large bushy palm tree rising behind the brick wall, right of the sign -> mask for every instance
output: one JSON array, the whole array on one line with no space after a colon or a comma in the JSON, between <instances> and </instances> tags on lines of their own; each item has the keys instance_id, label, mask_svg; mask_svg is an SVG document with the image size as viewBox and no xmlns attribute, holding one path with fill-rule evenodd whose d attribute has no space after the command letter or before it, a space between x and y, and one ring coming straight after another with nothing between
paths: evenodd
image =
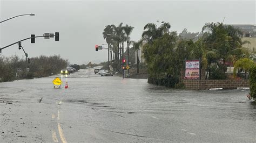
<instances>
[{"instance_id":1,"label":"large bushy palm tree rising behind the brick wall, right of the sign","mask_svg":"<svg viewBox=\"0 0 256 143\"><path fill-rule=\"evenodd\" d=\"M204 39L206 46L210 48L219 59L223 60L223 73L226 72L226 61L232 61L236 56L241 58L247 50L243 48L241 42L241 31L230 25L223 23L206 23L202 32L207 32ZM239 59L238 58L238 59Z\"/></svg>"}]
</instances>

